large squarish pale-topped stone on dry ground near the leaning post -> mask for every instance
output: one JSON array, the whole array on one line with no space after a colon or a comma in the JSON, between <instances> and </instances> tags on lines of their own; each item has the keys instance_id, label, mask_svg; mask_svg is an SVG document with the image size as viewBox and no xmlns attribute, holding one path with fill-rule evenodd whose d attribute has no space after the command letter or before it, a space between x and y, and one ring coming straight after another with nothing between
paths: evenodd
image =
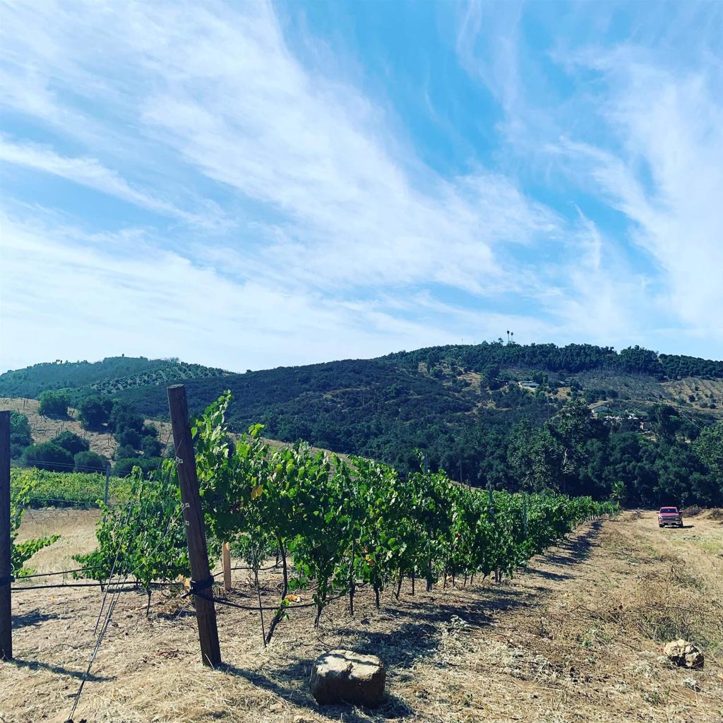
<instances>
[{"instance_id":1,"label":"large squarish pale-topped stone on dry ground near the leaning post","mask_svg":"<svg viewBox=\"0 0 723 723\"><path fill-rule=\"evenodd\" d=\"M387 672L375 655L331 650L318 657L312 669L311 689L317 703L353 703L378 706L384 698Z\"/></svg>"}]
</instances>

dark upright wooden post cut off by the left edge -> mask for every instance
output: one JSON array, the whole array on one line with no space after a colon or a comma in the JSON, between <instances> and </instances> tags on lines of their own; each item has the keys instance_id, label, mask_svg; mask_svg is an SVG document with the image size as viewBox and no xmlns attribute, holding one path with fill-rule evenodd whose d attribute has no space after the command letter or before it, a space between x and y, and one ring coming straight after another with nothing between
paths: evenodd
<instances>
[{"instance_id":1,"label":"dark upright wooden post cut off by the left edge","mask_svg":"<svg viewBox=\"0 0 723 723\"><path fill-rule=\"evenodd\" d=\"M12 660L10 412L0 411L0 660Z\"/></svg>"}]
</instances>

